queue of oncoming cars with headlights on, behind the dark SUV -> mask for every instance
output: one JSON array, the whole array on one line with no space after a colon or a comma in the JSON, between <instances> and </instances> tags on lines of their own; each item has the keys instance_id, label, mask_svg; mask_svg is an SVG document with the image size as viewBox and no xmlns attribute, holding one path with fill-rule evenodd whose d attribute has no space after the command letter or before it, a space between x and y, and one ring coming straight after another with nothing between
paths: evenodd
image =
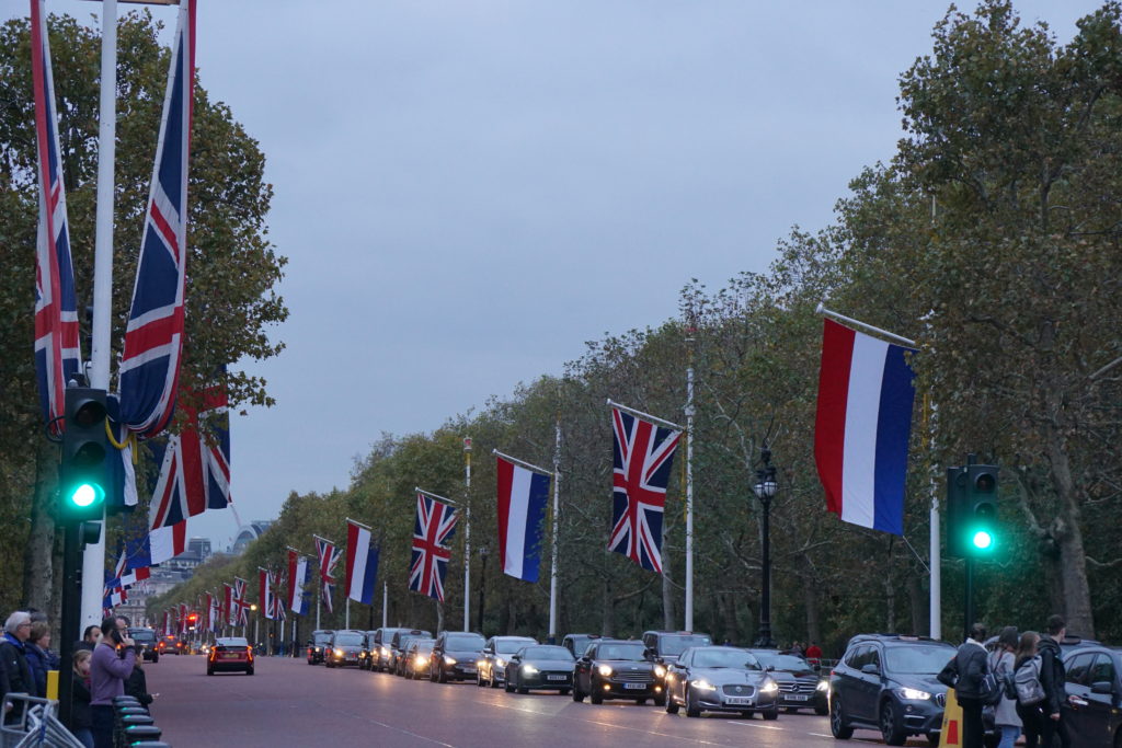
<instances>
[{"instance_id":1,"label":"queue of oncoming cars with headlights on, behind the dark SUV","mask_svg":"<svg viewBox=\"0 0 1122 748\"><path fill-rule=\"evenodd\" d=\"M714 646L705 634L646 631L642 639L567 635L561 645L524 636L473 631L380 628L316 630L307 664L355 665L434 683L468 681L507 692L557 691L594 704L606 700L653 702L671 714L760 713L781 710L827 713L827 689L802 657L771 649Z\"/></svg>"}]
</instances>

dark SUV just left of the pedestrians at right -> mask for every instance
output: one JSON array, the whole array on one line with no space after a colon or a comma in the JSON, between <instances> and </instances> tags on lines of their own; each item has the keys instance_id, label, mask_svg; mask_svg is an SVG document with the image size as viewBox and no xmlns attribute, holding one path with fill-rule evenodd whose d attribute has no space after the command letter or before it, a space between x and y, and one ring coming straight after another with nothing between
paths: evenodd
<instances>
[{"instance_id":1,"label":"dark SUV just left of the pedestrians at right","mask_svg":"<svg viewBox=\"0 0 1122 748\"><path fill-rule=\"evenodd\" d=\"M853 637L830 673L830 732L848 740L859 727L880 730L890 746L902 746L912 735L938 745L947 687L935 676L955 652L927 637Z\"/></svg>"}]
</instances>

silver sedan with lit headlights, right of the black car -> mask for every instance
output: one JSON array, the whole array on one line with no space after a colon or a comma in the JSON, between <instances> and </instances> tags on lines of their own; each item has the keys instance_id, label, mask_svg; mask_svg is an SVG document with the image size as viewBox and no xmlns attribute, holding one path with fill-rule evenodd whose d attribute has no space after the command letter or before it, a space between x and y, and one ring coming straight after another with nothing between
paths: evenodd
<instances>
[{"instance_id":1,"label":"silver sedan with lit headlights, right of the black car","mask_svg":"<svg viewBox=\"0 0 1122 748\"><path fill-rule=\"evenodd\" d=\"M747 649L690 647L666 669L666 712L738 712L779 717L779 683Z\"/></svg>"}]
</instances>

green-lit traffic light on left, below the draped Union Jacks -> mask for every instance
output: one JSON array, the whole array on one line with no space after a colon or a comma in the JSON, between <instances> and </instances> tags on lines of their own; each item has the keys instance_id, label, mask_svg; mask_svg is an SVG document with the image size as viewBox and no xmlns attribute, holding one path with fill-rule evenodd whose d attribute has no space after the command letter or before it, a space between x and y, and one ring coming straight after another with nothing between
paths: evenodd
<instances>
[{"instance_id":1,"label":"green-lit traffic light on left, below the draped Union Jacks","mask_svg":"<svg viewBox=\"0 0 1122 748\"><path fill-rule=\"evenodd\" d=\"M109 479L105 390L66 388L66 431L58 487L58 519L77 524L101 519Z\"/></svg>"}]
</instances>

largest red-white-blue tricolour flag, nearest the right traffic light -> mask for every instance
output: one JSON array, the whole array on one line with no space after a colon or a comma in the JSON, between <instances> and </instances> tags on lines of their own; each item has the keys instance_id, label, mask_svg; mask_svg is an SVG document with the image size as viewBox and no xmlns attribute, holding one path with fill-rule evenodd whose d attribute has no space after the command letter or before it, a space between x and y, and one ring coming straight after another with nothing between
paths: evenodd
<instances>
[{"instance_id":1,"label":"largest red-white-blue tricolour flag, nearest the right traffic light","mask_svg":"<svg viewBox=\"0 0 1122 748\"><path fill-rule=\"evenodd\" d=\"M909 349L825 321L815 461L844 521L903 535L916 390Z\"/></svg>"}]
</instances>

